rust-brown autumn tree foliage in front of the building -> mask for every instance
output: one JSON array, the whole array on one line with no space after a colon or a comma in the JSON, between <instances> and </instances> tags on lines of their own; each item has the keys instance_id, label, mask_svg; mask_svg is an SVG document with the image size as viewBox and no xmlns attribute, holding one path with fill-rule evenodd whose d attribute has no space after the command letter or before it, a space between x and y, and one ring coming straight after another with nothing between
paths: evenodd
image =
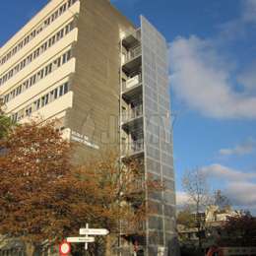
<instances>
[{"instance_id":1,"label":"rust-brown autumn tree foliage in front of the building","mask_svg":"<svg viewBox=\"0 0 256 256\"><path fill-rule=\"evenodd\" d=\"M126 235L138 232L152 211L144 188L162 189L145 180L139 162L121 164L113 153L74 165L76 146L54 122L16 126L0 138L0 149L0 233L32 247L77 236L87 223L116 235L120 223Z\"/></svg>"}]
</instances>

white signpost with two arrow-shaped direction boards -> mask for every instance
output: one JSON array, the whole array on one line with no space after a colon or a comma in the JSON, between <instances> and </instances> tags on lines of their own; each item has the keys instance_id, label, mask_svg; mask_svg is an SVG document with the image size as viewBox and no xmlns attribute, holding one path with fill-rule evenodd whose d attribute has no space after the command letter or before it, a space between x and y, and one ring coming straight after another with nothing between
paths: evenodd
<instances>
[{"instance_id":1,"label":"white signpost with two arrow-shaped direction boards","mask_svg":"<svg viewBox=\"0 0 256 256\"><path fill-rule=\"evenodd\" d=\"M67 242L83 242L85 243L85 249L88 250L88 243L95 242L96 238L94 236L89 235L107 235L109 231L104 228L89 228L89 224L87 224L86 228L80 228L79 234L85 235L80 237L68 237Z\"/></svg>"}]
</instances>

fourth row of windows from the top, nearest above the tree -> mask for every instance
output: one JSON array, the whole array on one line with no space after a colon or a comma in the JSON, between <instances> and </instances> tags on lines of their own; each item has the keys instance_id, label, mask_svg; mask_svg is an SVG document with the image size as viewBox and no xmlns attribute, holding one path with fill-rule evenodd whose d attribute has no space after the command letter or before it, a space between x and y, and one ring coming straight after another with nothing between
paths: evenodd
<instances>
[{"instance_id":1,"label":"fourth row of windows from the top, nearest above the tree","mask_svg":"<svg viewBox=\"0 0 256 256\"><path fill-rule=\"evenodd\" d=\"M52 90L50 93L39 97L35 101L32 102L32 104L26 106L22 110L14 113L12 115L12 121L18 122L22 118L31 116L32 112L37 111L39 108L44 107L48 103L56 100L60 96L64 96L69 92L69 84L65 83L64 85Z\"/></svg>"}]
</instances>

